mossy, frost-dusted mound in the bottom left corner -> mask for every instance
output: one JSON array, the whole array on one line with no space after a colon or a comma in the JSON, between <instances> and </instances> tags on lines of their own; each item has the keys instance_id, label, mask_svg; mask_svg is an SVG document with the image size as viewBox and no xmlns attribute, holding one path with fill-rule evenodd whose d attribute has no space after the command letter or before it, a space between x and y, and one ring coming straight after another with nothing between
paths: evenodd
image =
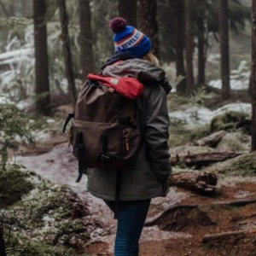
<instances>
[{"instance_id":1,"label":"mossy, frost-dusted mound in the bottom left corner","mask_svg":"<svg viewBox=\"0 0 256 256\"><path fill-rule=\"evenodd\" d=\"M8 255L86 255L79 250L90 240L89 211L78 195L16 165L1 175L2 198L13 199L2 206Z\"/></svg>"}]
</instances>

